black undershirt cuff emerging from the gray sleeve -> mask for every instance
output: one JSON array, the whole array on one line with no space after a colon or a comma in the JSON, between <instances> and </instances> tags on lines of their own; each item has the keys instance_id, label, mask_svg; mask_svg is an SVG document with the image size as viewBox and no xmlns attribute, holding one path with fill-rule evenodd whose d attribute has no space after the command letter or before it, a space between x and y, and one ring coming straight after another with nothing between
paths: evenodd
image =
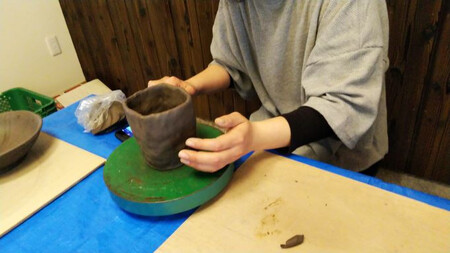
<instances>
[{"instance_id":1,"label":"black undershirt cuff emerging from the gray sleeve","mask_svg":"<svg viewBox=\"0 0 450 253\"><path fill-rule=\"evenodd\" d=\"M322 114L311 107L301 106L281 116L287 120L291 129L291 144L277 149L281 153L292 153L305 144L336 136Z\"/></svg>"}]
</instances>

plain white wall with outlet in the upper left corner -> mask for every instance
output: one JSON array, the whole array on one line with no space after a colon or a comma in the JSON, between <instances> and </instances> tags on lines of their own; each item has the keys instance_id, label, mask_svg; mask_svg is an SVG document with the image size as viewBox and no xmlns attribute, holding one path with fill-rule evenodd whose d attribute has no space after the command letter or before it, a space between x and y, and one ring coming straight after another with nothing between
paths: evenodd
<instances>
[{"instance_id":1,"label":"plain white wall with outlet in the upper left corner","mask_svg":"<svg viewBox=\"0 0 450 253\"><path fill-rule=\"evenodd\" d=\"M57 56L45 42L54 35ZM0 92L24 87L55 96L84 81L58 0L0 0Z\"/></svg>"}]
</instances>

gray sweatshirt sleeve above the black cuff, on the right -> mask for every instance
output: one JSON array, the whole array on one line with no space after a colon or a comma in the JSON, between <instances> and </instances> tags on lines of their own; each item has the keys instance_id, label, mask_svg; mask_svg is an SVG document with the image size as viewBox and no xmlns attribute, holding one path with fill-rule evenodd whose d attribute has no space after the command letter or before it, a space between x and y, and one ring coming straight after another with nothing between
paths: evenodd
<instances>
[{"instance_id":1,"label":"gray sweatshirt sleeve above the black cuff, on the right","mask_svg":"<svg viewBox=\"0 0 450 253\"><path fill-rule=\"evenodd\" d=\"M377 117L388 65L387 11L382 0L327 3L303 70L304 106L322 114L352 149Z\"/></svg>"}]
</instances>

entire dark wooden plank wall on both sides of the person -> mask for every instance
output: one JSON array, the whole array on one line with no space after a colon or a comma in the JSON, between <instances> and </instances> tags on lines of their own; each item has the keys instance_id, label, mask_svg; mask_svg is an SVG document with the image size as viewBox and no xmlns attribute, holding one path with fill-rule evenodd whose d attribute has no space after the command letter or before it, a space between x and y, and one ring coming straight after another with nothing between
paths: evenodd
<instances>
[{"instance_id":1,"label":"entire dark wooden plank wall on both sides of the person","mask_svg":"<svg viewBox=\"0 0 450 253\"><path fill-rule=\"evenodd\" d=\"M383 165L450 183L450 1L387 0L390 151ZM87 80L127 95L162 76L188 78L211 61L218 0L60 0ZM195 99L214 119L257 101L235 91Z\"/></svg>"}]
</instances>

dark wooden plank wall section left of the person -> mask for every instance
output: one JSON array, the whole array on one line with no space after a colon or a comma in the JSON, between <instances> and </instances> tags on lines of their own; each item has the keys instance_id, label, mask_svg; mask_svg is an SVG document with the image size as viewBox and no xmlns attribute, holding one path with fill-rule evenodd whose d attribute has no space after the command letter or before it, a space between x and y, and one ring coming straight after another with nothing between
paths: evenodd
<instances>
[{"instance_id":1,"label":"dark wooden plank wall section left of the person","mask_svg":"<svg viewBox=\"0 0 450 253\"><path fill-rule=\"evenodd\" d=\"M60 0L87 80L98 78L125 94L163 76L183 79L211 62L209 44L218 1ZM214 119L246 102L232 90L195 100L199 117Z\"/></svg>"}]
</instances>

